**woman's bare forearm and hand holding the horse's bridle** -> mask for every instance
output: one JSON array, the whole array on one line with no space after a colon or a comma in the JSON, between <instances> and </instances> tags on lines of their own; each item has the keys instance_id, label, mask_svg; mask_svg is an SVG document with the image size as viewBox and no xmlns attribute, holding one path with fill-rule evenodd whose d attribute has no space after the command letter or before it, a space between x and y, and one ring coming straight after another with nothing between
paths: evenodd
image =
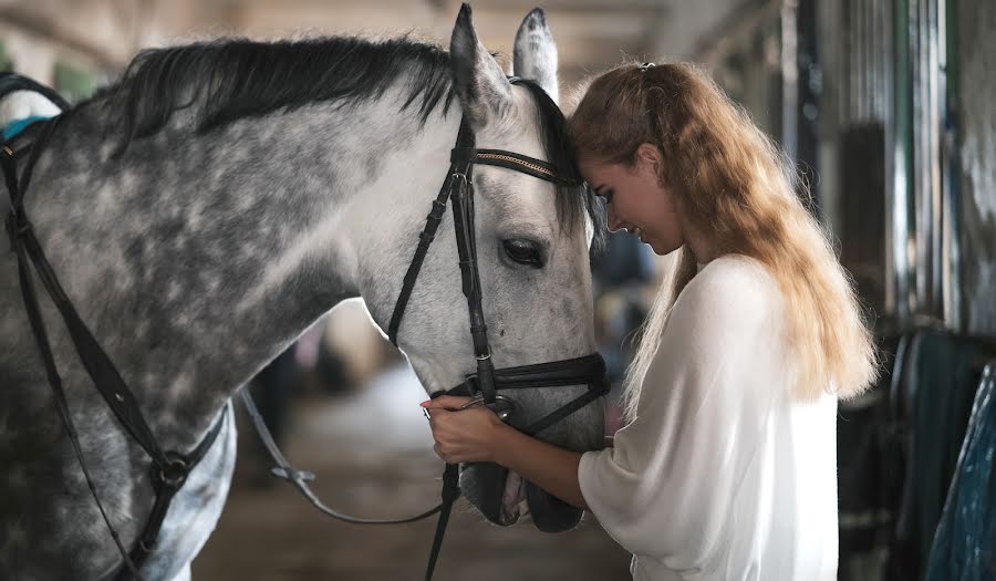
<instances>
[{"instance_id":1,"label":"woman's bare forearm and hand holding the horse's bridle","mask_svg":"<svg viewBox=\"0 0 996 581\"><path fill-rule=\"evenodd\" d=\"M486 407L458 409L468 398L443 396L423 403L436 453L447 463L494 461L575 507L587 508L578 484L581 454L527 436Z\"/></svg>"}]
</instances>

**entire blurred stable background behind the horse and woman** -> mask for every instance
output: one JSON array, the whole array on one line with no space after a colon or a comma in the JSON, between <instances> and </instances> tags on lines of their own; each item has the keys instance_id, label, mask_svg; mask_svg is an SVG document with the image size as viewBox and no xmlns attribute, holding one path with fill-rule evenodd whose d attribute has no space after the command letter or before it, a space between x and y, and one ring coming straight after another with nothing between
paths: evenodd
<instances>
[{"instance_id":1,"label":"entire blurred stable background behind the horse and woman","mask_svg":"<svg viewBox=\"0 0 996 581\"><path fill-rule=\"evenodd\" d=\"M473 6L483 42L510 54L536 4ZM979 422L969 419L983 370L996 357L996 3L541 6L560 51L562 90L626 55L696 61L796 159L812 211L857 280L888 354L880 384L840 409L839 578L923 577L945 502L958 498L954 475L972 469L958 456L966 429ZM147 46L412 30L446 42L457 9L449 0L2 0L0 70L80 100ZM636 239L613 235L593 264L596 329L616 387L660 260ZM289 457L318 475L329 504L386 518L437 501L442 463L417 409L424 392L361 302L334 309L251 388ZM614 402L609 407L611 434L618 412ZM326 521L267 475L255 434L240 426L231 495L194 562L195 579L422 574L433 522ZM988 495L996 496L992 486ZM629 556L591 516L575 531L546 536L528 523L491 527L467 505L456 512L439 580L629 579ZM976 541L996 568L993 539Z\"/></svg>"}]
</instances>

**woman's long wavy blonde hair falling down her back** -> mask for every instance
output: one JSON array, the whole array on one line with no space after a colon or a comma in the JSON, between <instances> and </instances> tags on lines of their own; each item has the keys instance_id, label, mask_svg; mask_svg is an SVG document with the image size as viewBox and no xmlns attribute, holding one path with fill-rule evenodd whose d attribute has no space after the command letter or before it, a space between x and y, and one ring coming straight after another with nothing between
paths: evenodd
<instances>
[{"instance_id":1,"label":"woman's long wavy blonde hair falling down her back","mask_svg":"<svg viewBox=\"0 0 996 581\"><path fill-rule=\"evenodd\" d=\"M718 253L748 256L767 268L785 295L800 363L795 400L828 391L851 397L874 381L876 350L851 279L797 195L790 162L707 74L687 63L621 64L591 82L568 128L581 159L632 165L641 144L656 145L661 180L688 222ZM630 419L671 308L696 272L687 245L678 252L626 374Z\"/></svg>"}]
</instances>

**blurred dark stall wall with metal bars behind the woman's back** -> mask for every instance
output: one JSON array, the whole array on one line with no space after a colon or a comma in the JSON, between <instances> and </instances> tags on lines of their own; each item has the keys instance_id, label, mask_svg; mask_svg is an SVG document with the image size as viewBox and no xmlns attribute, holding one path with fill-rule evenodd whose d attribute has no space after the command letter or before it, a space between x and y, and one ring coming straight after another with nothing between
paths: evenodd
<instances>
[{"instance_id":1,"label":"blurred dark stall wall with metal bars behind the woman's back","mask_svg":"<svg viewBox=\"0 0 996 581\"><path fill-rule=\"evenodd\" d=\"M992 443L966 434L993 425L994 19L985 2L771 2L703 54L796 159L885 357L839 411L841 580L994 574L992 523L959 512L964 488L977 506L994 490L965 477L992 470L973 460Z\"/></svg>"}]
</instances>

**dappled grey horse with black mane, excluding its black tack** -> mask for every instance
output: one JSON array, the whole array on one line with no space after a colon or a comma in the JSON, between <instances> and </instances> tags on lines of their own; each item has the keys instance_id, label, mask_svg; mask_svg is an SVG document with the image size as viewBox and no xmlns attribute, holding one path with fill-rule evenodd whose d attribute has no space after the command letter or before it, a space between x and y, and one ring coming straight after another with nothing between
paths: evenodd
<instances>
[{"instance_id":1,"label":"dappled grey horse with black mane, excluding its black tack","mask_svg":"<svg viewBox=\"0 0 996 581\"><path fill-rule=\"evenodd\" d=\"M557 56L540 11L522 22L513 69L532 82L509 81L464 6L448 51L411 37L146 50L53 125L24 199L52 270L164 448L189 450L219 430L143 578L189 579L231 481L232 395L340 301L362 298L387 329L461 120L479 147L573 167L546 96L558 95ZM473 180L492 359L516 366L594 352L593 195L500 166ZM454 222L442 216L395 336L429 394L475 372ZM123 558L56 413L11 253L0 257L0 578L113 578ZM98 396L46 297L41 314L96 496L131 547L153 504L149 458ZM521 422L579 390L517 393ZM602 406L585 405L540 437L594 449L602 426ZM523 504L544 531L581 516L494 465L464 466L459 487L500 526Z\"/></svg>"}]
</instances>

